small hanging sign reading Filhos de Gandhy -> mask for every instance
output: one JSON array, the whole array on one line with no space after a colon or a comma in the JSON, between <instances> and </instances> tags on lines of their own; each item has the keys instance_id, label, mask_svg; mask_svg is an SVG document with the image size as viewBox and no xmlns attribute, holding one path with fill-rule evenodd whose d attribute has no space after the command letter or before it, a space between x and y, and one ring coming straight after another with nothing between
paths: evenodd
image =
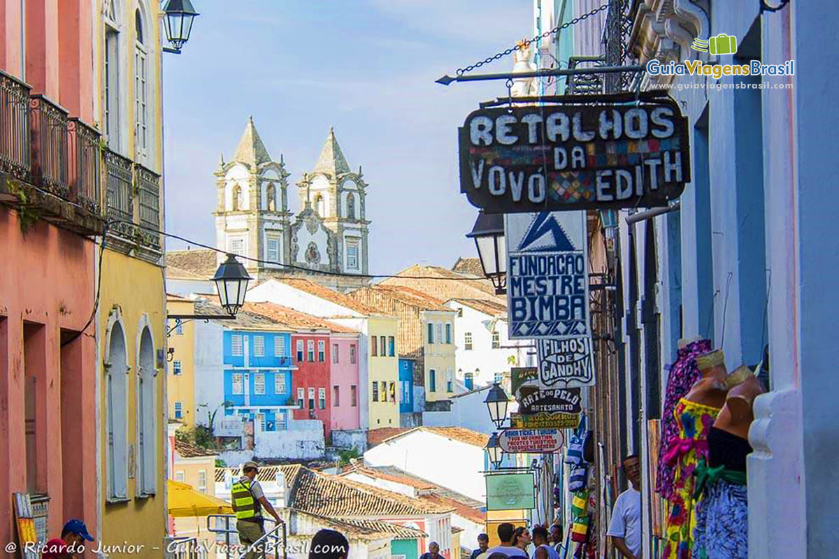
<instances>
[{"instance_id":1,"label":"small hanging sign reading Filhos de Gandhy","mask_svg":"<svg viewBox=\"0 0 839 559\"><path fill-rule=\"evenodd\" d=\"M591 386L594 384L594 356L591 338L538 339L536 356L539 386L545 388Z\"/></svg>"}]
</instances>

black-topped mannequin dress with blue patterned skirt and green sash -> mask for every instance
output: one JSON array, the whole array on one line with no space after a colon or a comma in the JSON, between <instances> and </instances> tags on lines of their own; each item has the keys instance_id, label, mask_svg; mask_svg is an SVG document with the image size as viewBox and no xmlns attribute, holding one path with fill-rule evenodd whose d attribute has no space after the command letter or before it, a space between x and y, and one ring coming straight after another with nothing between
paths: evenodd
<instances>
[{"instance_id":1,"label":"black-topped mannequin dress with blue patterned skirt and green sash","mask_svg":"<svg viewBox=\"0 0 839 559\"><path fill-rule=\"evenodd\" d=\"M748 559L748 441L717 427L708 433L708 464L696 468L693 556L696 559Z\"/></svg>"}]
</instances>

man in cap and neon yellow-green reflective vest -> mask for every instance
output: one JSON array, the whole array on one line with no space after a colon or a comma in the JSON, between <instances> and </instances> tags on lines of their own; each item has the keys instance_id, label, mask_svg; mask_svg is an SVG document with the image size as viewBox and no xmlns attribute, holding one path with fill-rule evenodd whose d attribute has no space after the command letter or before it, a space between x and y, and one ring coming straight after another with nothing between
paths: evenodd
<instances>
[{"instance_id":1,"label":"man in cap and neon yellow-green reflective vest","mask_svg":"<svg viewBox=\"0 0 839 559\"><path fill-rule=\"evenodd\" d=\"M259 466L256 462L243 463L242 477L236 480L231 489L239 543L246 548L265 534L262 509L267 510L268 514L274 516L274 520L279 522L277 511L268 503L262 486L256 479L258 472ZM258 551L258 549L250 550L243 557L256 559L256 557L265 556L264 549Z\"/></svg>"}]
</instances>

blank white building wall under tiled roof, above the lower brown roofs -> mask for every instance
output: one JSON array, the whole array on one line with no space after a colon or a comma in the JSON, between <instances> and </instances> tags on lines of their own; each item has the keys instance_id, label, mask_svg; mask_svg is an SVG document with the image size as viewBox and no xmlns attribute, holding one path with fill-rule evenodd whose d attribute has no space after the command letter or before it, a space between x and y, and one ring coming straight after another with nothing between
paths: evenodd
<instances>
[{"instance_id":1,"label":"blank white building wall under tiled roof, above the lower brown roofs","mask_svg":"<svg viewBox=\"0 0 839 559\"><path fill-rule=\"evenodd\" d=\"M419 429L370 448L364 463L396 466L483 502L483 457L483 448Z\"/></svg>"}]
</instances>

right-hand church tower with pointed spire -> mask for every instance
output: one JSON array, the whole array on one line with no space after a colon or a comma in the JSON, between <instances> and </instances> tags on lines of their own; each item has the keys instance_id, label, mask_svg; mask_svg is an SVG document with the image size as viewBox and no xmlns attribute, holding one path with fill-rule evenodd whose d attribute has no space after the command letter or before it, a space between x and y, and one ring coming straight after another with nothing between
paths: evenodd
<instances>
[{"instance_id":1,"label":"right-hand church tower with pointed spire","mask_svg":"<svg viewBox=\"0 0 839 559\"><path fill-rule=\"evenodd\" d=\"M331 233L328 246L331 272L367 274L367 231L370 224L365 219L367 183L360 166L357 173L350 170L333 128L329 129L315 167L304 174L297 187L301 210L292 225L294 246L298 249L296 256L292 255L295 263L305 265L306 257L314 255L311 248L313 241L309 240L309 236L314 216L317 216L324 229ZM307 217L308 228L303 226ZM347 285L353 283L350 281Z\"/></svg>"}]
</instances>

